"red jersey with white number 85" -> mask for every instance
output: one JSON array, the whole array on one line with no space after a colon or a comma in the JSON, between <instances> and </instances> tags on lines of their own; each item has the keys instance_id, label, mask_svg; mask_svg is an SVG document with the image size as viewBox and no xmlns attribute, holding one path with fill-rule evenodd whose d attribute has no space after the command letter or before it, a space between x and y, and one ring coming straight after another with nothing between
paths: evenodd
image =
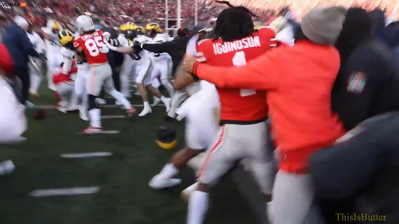
<instances>
[{"instance_id":1,"label":"red jersey with white number 85","mask_svg":"<svg viewBox=\"0 0 399 224\"><path fill-rule=\"evenodd\" d=\"M104 46L103 31L100 29L91 33L84 33L73 40L73 47L75 49L82 48L89 65L108 62L107 53L101 52L101 48Z\"/></svg>"}]
</instances>

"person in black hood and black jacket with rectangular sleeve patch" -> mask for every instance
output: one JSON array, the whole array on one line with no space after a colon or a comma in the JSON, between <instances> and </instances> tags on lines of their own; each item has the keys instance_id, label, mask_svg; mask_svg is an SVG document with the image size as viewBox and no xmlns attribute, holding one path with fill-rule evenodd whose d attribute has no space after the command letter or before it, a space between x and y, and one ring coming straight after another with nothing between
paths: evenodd
<instances>
[{"instance_id":1,"label":"person in black hood and black jacket with rectangular sleeve patch","mask_svg":"<svg viewBox=\"0 0 399 224\"><path fill-rule=\"evenodd\" d=\"M350 8L336 43L341 66L332 89L332 110L348 131L367 118L399 109L393 95L399 89L395 56L372 31L369 14Z\"/></svg>"}]
</instances>

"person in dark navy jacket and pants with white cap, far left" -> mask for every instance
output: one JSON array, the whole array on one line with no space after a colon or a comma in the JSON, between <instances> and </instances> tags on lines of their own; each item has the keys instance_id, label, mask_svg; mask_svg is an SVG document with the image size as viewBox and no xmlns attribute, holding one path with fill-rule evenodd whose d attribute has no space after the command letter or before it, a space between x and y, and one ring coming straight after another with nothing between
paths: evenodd
<instances>
[{"instance_id":1,"label":"person in dark navy jacket and pants with white cap, far left","mask_svg":"<svg viewBox=\"0 0 399 224\"><path fill-rule=\"evenodd\" d=\"M40 55L28 38L26 29L28 29L28 22L21 16L16 16L5 29L3 43L14 61L14 75L18 76L22 83L22 93L17 93L21 94L20 102L23 105L31 106L32 103L27 102L30 88L28 57L39 58ZM9 78L15 80L15 77Z\"/></svg>"}]
</instances>

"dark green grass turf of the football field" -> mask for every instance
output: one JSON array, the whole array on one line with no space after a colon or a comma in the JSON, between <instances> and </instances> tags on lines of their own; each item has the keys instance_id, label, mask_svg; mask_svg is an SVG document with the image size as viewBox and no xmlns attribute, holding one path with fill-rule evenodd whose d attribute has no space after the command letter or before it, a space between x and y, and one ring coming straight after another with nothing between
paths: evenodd
<instances>
[{"instance_id":1,"label":"dark green grass turf of the football field","mask_svg":"<svg viewBox=\"0 0 399 224\"><path fill-rule=\"evenodd\" d=\"M44 86L36 105L55 103ZM142 104L137 96L132 104ZM112 104L109 100L108 104ZM138 111L142 107L137 107ZM120 134L83 136L87 127L77 113L46 110L45 120L32 119L28 110L28 141L20 145L0 145L0 159L12 159L13 173L0 177L1 224L177 224L186 222L187 204L180 192L194 183L194 173L186 168L179 174L182 184L156 191L148 181L157 174L175 150L155 143L156 131L166 125L165 108L157 106L148 118L103 120L105 130ZM124 110L105 108L103 115L125 115ZM184 146L184 124L178 130L178 149ZM61 153L109 151L111 157L62 159ZM35 189L101 187L93 195L34 198ZM229 177L212 191L207 224L251 224L253 214Z\"/></svg>"}]
</instances>

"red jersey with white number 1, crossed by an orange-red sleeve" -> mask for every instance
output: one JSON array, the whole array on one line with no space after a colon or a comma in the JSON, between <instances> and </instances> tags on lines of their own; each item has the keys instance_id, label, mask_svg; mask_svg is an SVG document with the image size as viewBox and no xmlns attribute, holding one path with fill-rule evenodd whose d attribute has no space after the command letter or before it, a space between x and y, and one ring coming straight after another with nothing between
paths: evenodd
<instances>
[{"instance_id":1,"label":"red jersey with white number 1, crossed by an orange-red sleeve","mask_svg":"<svg viewBox=\"0 0 399 224\"><path fill-rule=\"evenodd\" d=\"M246 65L276 46L276 33L269 28L254 31L252 36L226 41L203 39L197 44L197 61L217 66ZM259 65L262 66L262 65ZM267 69L267 68L265 68ZM266 91L219 88L220 119L225 121L253 122L267 117Z\"/></svg>"}]
</instances>

